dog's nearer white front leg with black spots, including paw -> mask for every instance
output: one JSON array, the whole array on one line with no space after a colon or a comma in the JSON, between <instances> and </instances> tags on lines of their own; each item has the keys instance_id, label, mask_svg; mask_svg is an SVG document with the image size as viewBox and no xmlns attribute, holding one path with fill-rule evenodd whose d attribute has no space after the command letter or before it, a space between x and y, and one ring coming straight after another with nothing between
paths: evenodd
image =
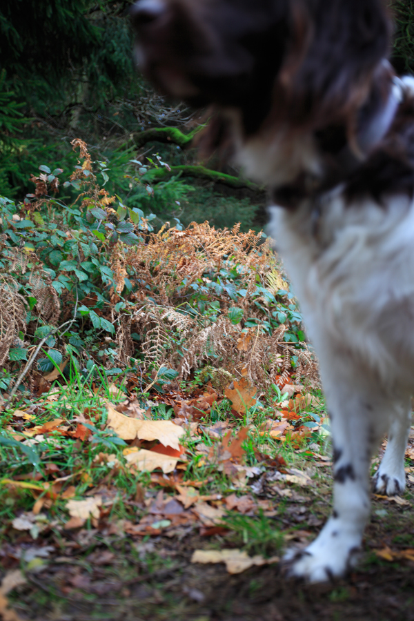
<instances>
[{"instance_id":1,"label":"dog's nearer white front leg with black spots, including paw","mask_svg":"<svg viewBox=\"0 0 414 621\"><path fill-rule=\"evenodd\" d=\"M319 354L333 440L333 513L304 551L289 551L290 575L311 582L342 576L357 560L370 512L369 466L385 433L391 400L347 353Z\"/></svg>"}]
</instances>

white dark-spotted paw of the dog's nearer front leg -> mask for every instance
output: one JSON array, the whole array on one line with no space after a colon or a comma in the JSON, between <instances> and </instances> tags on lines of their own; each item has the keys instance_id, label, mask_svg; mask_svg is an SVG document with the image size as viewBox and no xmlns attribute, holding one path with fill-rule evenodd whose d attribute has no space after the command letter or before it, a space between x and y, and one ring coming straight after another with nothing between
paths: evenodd
<instances>
[{"instance_id":1,"label":"white dark-spotted paw of the dog's nearer front leg","mask_svg":"<svg viewBox=\"0 0 414 621\"><path fill-rule=\"evenodd\" d=\"M335 523L334 523L335 522ZM360 538L341 530L338 520L329 520L304 550L290 549L284 556L288 576L304 578L307 582L327 582L342 578L357 562Z\"/></svg>"}]
</instances>

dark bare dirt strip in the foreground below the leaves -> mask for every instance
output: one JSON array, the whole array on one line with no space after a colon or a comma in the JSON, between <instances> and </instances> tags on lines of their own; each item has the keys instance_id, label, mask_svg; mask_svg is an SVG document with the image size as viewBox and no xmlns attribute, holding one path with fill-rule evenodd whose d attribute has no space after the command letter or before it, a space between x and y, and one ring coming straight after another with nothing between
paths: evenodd
<instances>
[{"instance_id":1,"label":"dark bare dirt strip in the foreground below the leaves","mask_svg":"<svg viewBox=\"0 0 414 621\"><path fill-rule=\"evenodd\" d=\"M412 504L413 486L404 499ZM317 532L329 496L319 496L316 506L315 500L291 502L275 526ZM335 584L288 580L278 564L237 575L223 564L191 564L195 549L226 547L219 535L134 541L83 531L81 540L72 534L61 542L65 555L26 573L28 582L9 599L22 619L33 621L414 621L414 562L375 553L414 548L408 503L374 500L362 560ZM307 530L299 530L304 524Z\"/></svg>"}]
</instances>

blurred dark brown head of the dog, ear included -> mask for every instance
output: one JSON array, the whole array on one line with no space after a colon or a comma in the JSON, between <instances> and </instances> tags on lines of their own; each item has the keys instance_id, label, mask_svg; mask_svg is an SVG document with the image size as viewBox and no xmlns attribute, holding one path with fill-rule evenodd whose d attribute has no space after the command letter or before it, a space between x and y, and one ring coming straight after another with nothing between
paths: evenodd
<instances>
[{"instance_id":1,"label":"blurred dark brown head of the dog, ear included","mask_svg":"<svg viewBox=\"0 0 414 621\"><path fill-rule=\"evenodd\" d=\"M348 124L388 53L382 0L139 0L137 57L166 95L275 125Z\"/></svg>"}]
</instances>

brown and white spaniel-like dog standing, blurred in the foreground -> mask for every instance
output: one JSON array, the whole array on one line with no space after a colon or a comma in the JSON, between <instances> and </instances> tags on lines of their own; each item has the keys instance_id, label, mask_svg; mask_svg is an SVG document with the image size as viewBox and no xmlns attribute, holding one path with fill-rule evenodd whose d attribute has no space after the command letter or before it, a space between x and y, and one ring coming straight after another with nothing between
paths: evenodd
<instances>
[{"instance_id":1,"label":"brown and white spaniel-like dog standing, blurred in the foreground","mask_svg":"<svg viewBox=\"0 0 414 621\"><path fill-rule=\"evenodd\" d=\"M201 149L268 186L270 234L319 359L333 513L290 575L355 564L373 486L405 487L414 382L414 79L388 62L381 0L140 0L137 57L164 94L213 106Z\"/></svg>"}]
</instances>

